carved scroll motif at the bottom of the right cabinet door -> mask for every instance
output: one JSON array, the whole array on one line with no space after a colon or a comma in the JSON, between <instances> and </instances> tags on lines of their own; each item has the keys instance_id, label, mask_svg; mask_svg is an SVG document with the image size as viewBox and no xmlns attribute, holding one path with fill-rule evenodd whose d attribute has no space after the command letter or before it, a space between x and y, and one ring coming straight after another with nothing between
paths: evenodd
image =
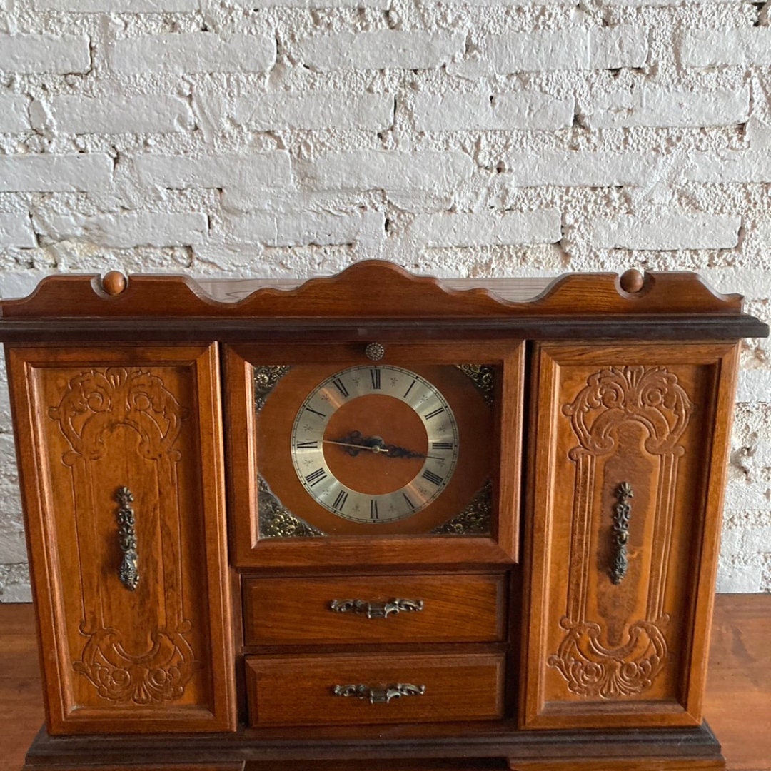
<instances>
[{"instance_id":1,"label":"carved scroll motif at the bottom of the right cabinet door","mask_svg":"<svg viewBox=\"0 0 771 771\"><path fill-rule=\"evenodd\" d=\"M668 620L636 621L626 645L604 648L598 624L563 618L560 625L567 635L547 664L564 677L567 690L579 696L611 700L641 695L664 668L668 648L662 627Z\"/></svg>"}]
</instances>

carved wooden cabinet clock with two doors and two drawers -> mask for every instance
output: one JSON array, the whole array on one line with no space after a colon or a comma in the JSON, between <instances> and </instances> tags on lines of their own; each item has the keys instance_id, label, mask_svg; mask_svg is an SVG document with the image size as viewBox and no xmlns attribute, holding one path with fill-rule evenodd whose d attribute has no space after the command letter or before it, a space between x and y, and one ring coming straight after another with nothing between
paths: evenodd
<instances>
[{"instance_id":1,"label":"carved wooden cabinet clock with two doors and two drawers","mask_svg":"<svg viewBox=\"0 0 771 771\"><path fill-rule=\"evenodd\" d=\"M0 306L27 771L725 768L702 693L739 340L768 332L741 298L376 261L209 284Z\"/></svg>"}]
</instances>

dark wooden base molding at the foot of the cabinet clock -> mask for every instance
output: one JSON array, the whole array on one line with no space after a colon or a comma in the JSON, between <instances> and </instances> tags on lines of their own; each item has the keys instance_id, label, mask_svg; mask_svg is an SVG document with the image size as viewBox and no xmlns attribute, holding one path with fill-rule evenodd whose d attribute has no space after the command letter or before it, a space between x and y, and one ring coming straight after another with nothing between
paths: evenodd
<instances>
[{"instance_id":1,"label":"dark wooden base molding at the foot of the cabinet clock","mask_svg":"<svg viewBox=\"0 0 771 771\"><path fill-rule=\"evenodd\" d=\"M298 739L298 733L302 738ZM233 734L49 736L23 771L722 771L706 724L693 729L517 731L506 723Z\"/></svg>"}]
</instances>

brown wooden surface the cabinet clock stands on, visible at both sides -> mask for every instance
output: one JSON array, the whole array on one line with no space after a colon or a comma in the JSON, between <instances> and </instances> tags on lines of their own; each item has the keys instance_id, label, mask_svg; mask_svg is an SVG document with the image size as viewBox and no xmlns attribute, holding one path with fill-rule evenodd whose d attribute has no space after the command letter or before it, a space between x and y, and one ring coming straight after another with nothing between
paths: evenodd
<instances>
[{"instance_id":1,"label":"brown wooden surface the cabinet clock stands on, visible at both sides","mask_svg":"<svg viewBox=\"0 0 771 771\"><path fill-rule=\"evenodd\" d=\"M771 594L718 595L705 714L731 771L771 771ZM0 771L42 719L32 606L0 604Z\"/></svg>"}]
</instances>

